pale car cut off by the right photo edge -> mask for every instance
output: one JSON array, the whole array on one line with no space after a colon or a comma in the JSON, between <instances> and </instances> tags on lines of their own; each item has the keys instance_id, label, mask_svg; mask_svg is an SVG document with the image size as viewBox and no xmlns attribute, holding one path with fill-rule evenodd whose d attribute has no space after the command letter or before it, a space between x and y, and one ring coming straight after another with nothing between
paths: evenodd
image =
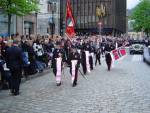
<instances>
[{"instance_id":1,"label":"pale car cut off by the right photo edge","mask_svg":"<svg viewBox=\"0 0 150 113\"><path fill-rule=\"evenodd\" d=\"M150 47L144 48L143 61L150 65Z\"/></svg>"}]
</instances>

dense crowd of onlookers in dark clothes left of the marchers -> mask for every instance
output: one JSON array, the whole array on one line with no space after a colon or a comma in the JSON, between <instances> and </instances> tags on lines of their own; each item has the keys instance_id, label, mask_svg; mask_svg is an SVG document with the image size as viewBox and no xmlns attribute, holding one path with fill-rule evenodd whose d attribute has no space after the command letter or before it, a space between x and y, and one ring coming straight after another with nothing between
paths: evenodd
<instances>
[{"instance_id":1,"label":"dense crowd of onlookers in dark clothes left of the marchers","mask_svg":"<svg viewBox=\"0 0 150 113\"><path fill-rule=\"evenodd\" d=\"M56 40L59 38L59 36L55 37ZM45 68L50 67L54 49L54 42L50 36L20 36L16 34L12 37L0 37L0 86L2 89L9 87L9 77L11 76L7 66L9 58L6 51L15 42L22 50L22 77L27 78L29 75L43 72Z\"/></svg>"}]
</instances>

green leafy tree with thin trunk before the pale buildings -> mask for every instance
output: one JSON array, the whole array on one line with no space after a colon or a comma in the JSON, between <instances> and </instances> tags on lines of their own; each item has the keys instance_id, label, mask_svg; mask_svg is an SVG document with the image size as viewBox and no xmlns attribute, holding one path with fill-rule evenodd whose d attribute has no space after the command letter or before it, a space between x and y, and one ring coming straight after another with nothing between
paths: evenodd
<instances>
[{"instance_id":1,"label":"green leafy tree with thin trunk before the pale buildings","mask_svg":"<svg viewBox=\"0 0 150 113\"><path fill-rule=\"evenodd\" d=\"M24 16L38 11L37 0L0 0L0 8L8 15L8 34L10 35L12 15Z\"/></svg>"}]
</instances>

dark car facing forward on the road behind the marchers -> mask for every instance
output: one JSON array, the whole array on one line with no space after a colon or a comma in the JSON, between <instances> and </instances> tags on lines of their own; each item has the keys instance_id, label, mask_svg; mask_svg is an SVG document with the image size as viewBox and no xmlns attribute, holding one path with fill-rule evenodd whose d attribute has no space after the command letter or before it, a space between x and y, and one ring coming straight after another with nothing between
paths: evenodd
<instances>
[{"instance_id":1,"label":"dark car facing forward on the road behind the marchers","mask_svg":"<svg viewBox=\"0 0 150 113\"><path fill-rule=\"evenodd\" d=\"M143 54L144 42L140 40L134 40L129 47L130 54Z\"/></svg>"}]
</instances>

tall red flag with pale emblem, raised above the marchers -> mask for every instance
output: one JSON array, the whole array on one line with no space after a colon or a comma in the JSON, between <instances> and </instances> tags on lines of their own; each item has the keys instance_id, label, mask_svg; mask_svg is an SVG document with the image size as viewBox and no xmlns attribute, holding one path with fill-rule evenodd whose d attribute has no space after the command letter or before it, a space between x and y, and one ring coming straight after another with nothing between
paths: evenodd
<instances>
[{"instance_id":1,"label":"tall red flag with pale emblem, raised above the marchers","mask_svg":"<svg viewBox=\"0 0 150 113\"><path fill-rule=\"evenodd\" d=\"M72 15L70 0L67 0L67 9L66 9L66 34L69 36L69 38L72 38L75 36L75 21Z\"/></svg>"}]
</instances>

